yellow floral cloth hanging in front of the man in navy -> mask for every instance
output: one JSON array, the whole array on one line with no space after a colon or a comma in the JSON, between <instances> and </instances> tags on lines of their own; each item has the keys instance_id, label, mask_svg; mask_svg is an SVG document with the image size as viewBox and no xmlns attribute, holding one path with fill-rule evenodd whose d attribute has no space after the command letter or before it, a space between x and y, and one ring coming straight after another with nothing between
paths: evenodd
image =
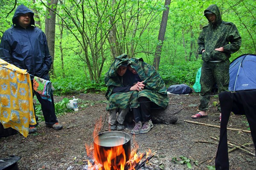
<instances>
[{"instance_id":1,"label":"yellow floral cloth hanging in front of the man in navy","mask_svg":"<svg viewBox=\"0 0 256 170\"><path fill-rule=\"evenodd\" d=\"M32 85L26 70L0 59L0 122L23 136L35 125Z\"/></svg>"}]
</instances>

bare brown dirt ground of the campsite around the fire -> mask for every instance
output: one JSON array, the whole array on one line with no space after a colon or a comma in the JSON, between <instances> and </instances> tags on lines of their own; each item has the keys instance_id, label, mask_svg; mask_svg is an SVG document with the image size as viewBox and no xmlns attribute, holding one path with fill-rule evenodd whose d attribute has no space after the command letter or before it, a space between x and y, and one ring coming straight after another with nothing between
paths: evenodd
<instances>
[{"instance_id":1,"label":"bare brown dirt ground of the campsite around the fire","mask_svg":"<svg viewBox=\"0 0 256 170\"><path fill-rule=\"evenodd\" d=\"M64 97L55 96L55 102ZM38 133L23 137L20 134L0 138L0 159L9 156L20 156L18 167L20 170L86 170L87 151L85 145L93 144L93 130L99 122L101 132L108 129L108 113L105 111L106 99L104 94L80 94L79 111L70 112L58 117L64 125L62 130L53 130L40 122ZM172 162L173 157L183 156L191 160L192 169L208 170L207 166L214 165L218 147L211 137L218 138L219 128L198 125L184 120L201 122L211 125L220 125L217 108L213 106L218 97L210 101L209 117L191 119L197 113L199 103L198 94L188 96L169 95L170 104L180 104L183 109L178 113L175 124L154 124L153 129L137 136L131 136L131 149L139 147L140 153L150 149L156 152L143 170L187 170L186 164ZM81 108L86 103L87 107ZM230 128L247 130L247 120L244 116L231 115L228 124ZM132 126L124 132L129 133ZM204 142L201 142L204 141ZM228 141L238 144L249 143L246 150L255 153L250 133L228 130ZM92 151L93 147L89 150ZM230 149L230 148L229 148ZM198 161L196 166L194 161ZM230 170L253 170L256 168L256 159L245 151L234 150L229 153ZM1 169L1 168L0 168Z\"/></svg>"}]
</instances>

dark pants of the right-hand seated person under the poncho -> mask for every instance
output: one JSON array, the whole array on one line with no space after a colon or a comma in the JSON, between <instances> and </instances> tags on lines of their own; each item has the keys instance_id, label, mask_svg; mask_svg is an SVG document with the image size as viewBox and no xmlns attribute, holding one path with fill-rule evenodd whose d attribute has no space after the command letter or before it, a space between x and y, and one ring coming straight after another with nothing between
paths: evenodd
<instances>
[{"instance_id":1,"label":"dark pants of the right-hand seated person under the poncho","mask_svg":"<svg viewBox=\"0 0 256 170\"><path fill-rule=\"evenodd\" d=\"M150 111L152 108L160 108L154 102L151 102L147 97L139 97L140 107L133 108L135 122L148 122L151 119Z\"/></svg>"}]
</instances>

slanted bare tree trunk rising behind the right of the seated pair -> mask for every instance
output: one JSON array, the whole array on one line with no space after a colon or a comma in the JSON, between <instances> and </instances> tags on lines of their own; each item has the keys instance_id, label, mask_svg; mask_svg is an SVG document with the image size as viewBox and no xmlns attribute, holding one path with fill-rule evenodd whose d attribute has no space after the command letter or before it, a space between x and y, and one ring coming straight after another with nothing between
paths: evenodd
<instances>
[{"instance_id":1,"label":"slanted bare tree trunk rising behind the right of the seated pair","mask_svg":"<svg viewBox=\"0 0 256 170\"><path fill-rule=\"evenodd\" d=\"M162 16L162 21L160 25L160 30L158 34L158 43L157 43L157 48L156 52L154 55L154 63L153 66L158 70L159 68L159 63L160 63L160 57L161 57L161 52L162 52L162 46L163 46L163 40L166 32L166 26L167 26L167 20L168 20L168 14L169 14L169 6L170 6L171 0L165 0L164 6L166 7L166 10L163 11L163 16Z\"/></svg>"}]
</instances>

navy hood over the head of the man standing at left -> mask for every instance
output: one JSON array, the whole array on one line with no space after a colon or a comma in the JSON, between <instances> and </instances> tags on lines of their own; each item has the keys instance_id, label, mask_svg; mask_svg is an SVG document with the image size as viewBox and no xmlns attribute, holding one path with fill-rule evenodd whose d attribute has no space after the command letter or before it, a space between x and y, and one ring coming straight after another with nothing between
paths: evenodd
<instances>
[{"instance_id":1,"label":"navy hood over the head of the man standing at left","mask_svg":"<svg viewBox=\"0 0 256 170\"><path fill-rule=\"evenodd\" d=\"M35 26L34 12L31 11L28 7L26 7L24 5L20 5L20 6L17 7L17 9L16 9L16 11L15 11L13 17L12 17L13 25L19 25L17 17L22 15L22 14L26 14L26 13L30 13L31 14L30 26L31 25Z\"/></svg>"}]
</instances>

